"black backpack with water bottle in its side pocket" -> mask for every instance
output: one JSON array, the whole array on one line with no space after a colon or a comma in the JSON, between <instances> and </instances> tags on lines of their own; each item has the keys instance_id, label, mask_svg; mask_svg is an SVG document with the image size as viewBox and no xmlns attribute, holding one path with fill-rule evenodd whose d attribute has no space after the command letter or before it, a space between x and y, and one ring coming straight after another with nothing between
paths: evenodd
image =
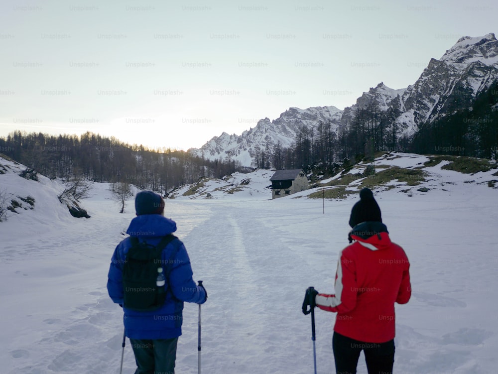
<instances>
[{"instance_id":1,"label":"black backpack with water bottle in its side pocket","mask_svg":"<svg viewBox=\"0 0 498 374\"><path fill-rule=\"evenodd\" d=\"M178 238L169 234L154 247L130 237L131 248L126 254L123 266L125 308L146 312L157 310L164 304L167 286L169 287L168 275L179 246L174 246L171 257L166 263L163 263L161 254L162 250L175 239ZM165 278L165 285L162 287L156 285L160 267Z\"/></svg>"}]
</instances>

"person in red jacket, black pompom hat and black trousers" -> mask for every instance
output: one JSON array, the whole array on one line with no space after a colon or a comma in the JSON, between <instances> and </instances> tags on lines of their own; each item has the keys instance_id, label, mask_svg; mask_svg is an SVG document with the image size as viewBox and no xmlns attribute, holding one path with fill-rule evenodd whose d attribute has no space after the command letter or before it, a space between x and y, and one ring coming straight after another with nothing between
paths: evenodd
<instances>
[{"instance_id":1,"label":"person in red jacket, black pompom hat and black trousers","mask_svg":"<svg viewBox=\"0 0 498 374\"><path fill-rule=\"evenodd\" d=\"M352 244L339 254L335 294L318 293L315 303L337 313L332 339L337 374L355 374L362 350L369 374L392 373L394 303L410 299L410 263L391 242L370 189L360 191L349 224Z\"/></svg>"}]
</instances>

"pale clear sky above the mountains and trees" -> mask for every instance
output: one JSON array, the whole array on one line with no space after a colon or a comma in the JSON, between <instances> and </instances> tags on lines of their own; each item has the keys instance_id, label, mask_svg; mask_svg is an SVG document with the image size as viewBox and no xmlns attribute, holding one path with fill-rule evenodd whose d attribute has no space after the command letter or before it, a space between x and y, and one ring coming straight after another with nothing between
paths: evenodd
<instances>
[{"instance_id":1,"label":"pale clear sky above the mountains and trees","mask_svg":"<svg viewBox=\"0 0 498 374\"><path fill-rule=\"evenodd\" d=\"M415 83L495 1L0 2L0 136L87 130L200 147L289 107Z\"/></svg>"}]
</instances>

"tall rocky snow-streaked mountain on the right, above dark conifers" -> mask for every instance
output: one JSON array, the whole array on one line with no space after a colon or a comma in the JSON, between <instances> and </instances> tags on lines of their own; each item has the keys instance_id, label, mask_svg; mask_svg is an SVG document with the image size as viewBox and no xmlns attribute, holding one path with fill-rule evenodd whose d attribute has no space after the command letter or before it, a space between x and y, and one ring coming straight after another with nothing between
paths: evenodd
<instances>
[{"instance_id":1,"label":"tall rocky snow-streaked mountain on the right, above dark conifers","mask_svg":"<svg viewBox=\"0 0 498 374\"><path fill-rule=\"evenodd\" d=\"M399 136L410 137L418 125L431 123L460 108L472 107L479 93L498 80L498 40L490 33L464 36L436 60L432 58L420 77L406 89L393 90L380 83L345 108L341 129L347 129L358 109L373 102L380 110L391 108Z\"/></svg>"}]
</instances>

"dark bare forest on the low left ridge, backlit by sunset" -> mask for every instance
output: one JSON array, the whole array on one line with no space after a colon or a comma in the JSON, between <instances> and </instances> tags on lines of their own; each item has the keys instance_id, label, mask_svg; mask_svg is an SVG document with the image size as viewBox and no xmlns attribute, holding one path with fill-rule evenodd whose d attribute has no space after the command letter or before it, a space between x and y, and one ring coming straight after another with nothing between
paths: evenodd
<instances>
[{"instance_id":1,"label":"dark bare forest on the low left ridge, backlit by sunset","mask_svg":"<svg viewBox=\"0 0 498 374\"><path fill-rule=\"evenodd\" d=\"M240 168L235 161L210 161L183 150L148 149L92 132L49 135L13 131L0 137L1 153L51 179L80 177L133 184L166 193L201 177L221 178Z\"/></svg>"}]
</instances>

